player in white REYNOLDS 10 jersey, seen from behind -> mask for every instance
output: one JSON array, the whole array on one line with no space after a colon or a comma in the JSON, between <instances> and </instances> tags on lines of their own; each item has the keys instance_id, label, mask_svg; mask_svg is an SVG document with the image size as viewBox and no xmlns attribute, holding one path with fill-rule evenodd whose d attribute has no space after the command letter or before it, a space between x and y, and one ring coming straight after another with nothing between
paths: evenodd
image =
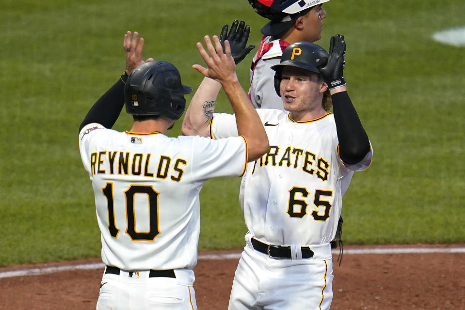
<instances>
[{"instance_id":1,"label":"player in white REYNOLDS 10 jersey, seen from behind","mask_svg":"<svg viewBox=\"0 0 465 310\"><path fill-rule=\"evenodd\" d=\"M171 63L144 63L143 39L138 43L137 33L130 36L128 32L124 41L126 74L97 100L79 132L106 264L96 309L197 309L192 268L197 262L199 191L208 178L241 176L246 162L265 154L269 144L237 80L229 44L223 53L217 37L216 50L206 39L211 58L198 43L208 68L196 68L224 85L238 135L221 140L167 137L192 88L181 84ZM118 132L111 127L123 93L134 123L131 130Z\"/></svg>"}]
</instances>

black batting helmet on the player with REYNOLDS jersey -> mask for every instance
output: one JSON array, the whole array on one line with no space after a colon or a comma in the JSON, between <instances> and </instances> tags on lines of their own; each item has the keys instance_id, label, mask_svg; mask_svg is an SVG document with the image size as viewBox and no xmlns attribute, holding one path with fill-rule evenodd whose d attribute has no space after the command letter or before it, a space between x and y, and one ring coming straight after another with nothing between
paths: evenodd
<instances>
[{"instance_id":1,"label":"black batting helmet on the player with REYNOLDS jersey","mask_svg":"<svg viewBox=\"0 0 465 310\"><path fill-rule=\"evenodd\" d=\"M181 76L173 64L145 62L132 70L126 81L126 112L131 115L164 115L176 121L186 106L184 95L191 92L191 87L181 84Z\"/></svg>"}]
</instances>

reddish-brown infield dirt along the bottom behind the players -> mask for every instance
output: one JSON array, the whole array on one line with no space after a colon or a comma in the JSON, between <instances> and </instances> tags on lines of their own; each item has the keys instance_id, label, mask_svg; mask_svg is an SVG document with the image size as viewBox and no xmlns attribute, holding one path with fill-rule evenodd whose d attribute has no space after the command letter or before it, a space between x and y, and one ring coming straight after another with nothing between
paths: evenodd
<instances>
[{"instance_id":1,"label":"reddish-brown infield dirt along the bottom behind the players","mask_svg":"<svg viewBox=\"0 0 465 310\"><path fill-rule=\"evenodd\" d=\"M403 246L406 248L406 246ZM455 248L460 245L417 245L415 248ZM334 256L334 310L465 309L465 253L347 254L341 266ZM370 247L376 248L376 247ZM383 247L385 248L385 247ZM395 246L392 248L402 248ZM235 253L239 253L236 251ZM224 251L202 254L221 254ZM228 252L230 253L230 252ZM19 269L99 263L99 259L22 265ZM194 288L199 310L227 309L238 259L200 259ZM103 269L72 270L40 276L0 279L1 310L95 310ZM296 308L298 309L298 308ZM304 308L303 308L304 309Z\"/></svg>"}]
</instances>

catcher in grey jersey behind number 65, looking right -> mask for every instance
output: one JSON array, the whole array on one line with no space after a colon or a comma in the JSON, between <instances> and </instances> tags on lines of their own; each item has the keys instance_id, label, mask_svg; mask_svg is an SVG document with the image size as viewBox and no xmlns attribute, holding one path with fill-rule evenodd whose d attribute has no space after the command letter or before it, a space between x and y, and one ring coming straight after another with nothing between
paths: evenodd
<instances>
[{"instance_id":1,"label":"catcher in grey jersey behind number 65, looking right","mask_svg":"<svg viewBox=\"0 0 465 310\"><path fill-rule=\"evenodd\" d=\"M263 37L250 68L249 98L256 108L284 109L274 92L273 65L279 63L289 44L321 39L329 0L249 0L257 14L270 19L262 29Z\"/></svg>"}]
</instances>

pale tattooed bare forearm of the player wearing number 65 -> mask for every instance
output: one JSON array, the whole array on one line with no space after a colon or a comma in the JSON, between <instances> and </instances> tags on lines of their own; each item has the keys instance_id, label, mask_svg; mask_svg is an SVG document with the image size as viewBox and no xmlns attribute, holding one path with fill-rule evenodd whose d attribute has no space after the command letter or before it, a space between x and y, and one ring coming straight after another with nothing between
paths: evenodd
<instances>
[{"instance_id":1,"label":"pale tattooed bare forearm of the player wearing number 65","mask_svg":"<svg viewBox=\"0 0 465 310\"><path fill-rule=\"evenodd\" d=\"M182 121L183 135L209 137L208 127L215 111L216 97L220 89L219 82L204 78L193 95Z\"/></svg>"}]
</instances>

